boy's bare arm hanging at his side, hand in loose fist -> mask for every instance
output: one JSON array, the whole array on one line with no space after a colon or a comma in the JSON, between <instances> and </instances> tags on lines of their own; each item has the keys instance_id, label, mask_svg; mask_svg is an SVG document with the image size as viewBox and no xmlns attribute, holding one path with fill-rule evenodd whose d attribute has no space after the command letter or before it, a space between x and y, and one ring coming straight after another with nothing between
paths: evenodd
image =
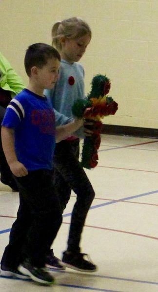
<instances>
[{"instance_id":1,"label":"boy's bare arm hanging at his side, hand in loose fist","mask_svg":"<svg viewBox=\"0 0 158 292\"><path fill-rule=\"evenodd\" d=\"M28 171L26 167L17 159L14 146L14 129L1 127L1 141L3 151L13 174L17 177L26 176Z\"/></svg>"}]
</instances>

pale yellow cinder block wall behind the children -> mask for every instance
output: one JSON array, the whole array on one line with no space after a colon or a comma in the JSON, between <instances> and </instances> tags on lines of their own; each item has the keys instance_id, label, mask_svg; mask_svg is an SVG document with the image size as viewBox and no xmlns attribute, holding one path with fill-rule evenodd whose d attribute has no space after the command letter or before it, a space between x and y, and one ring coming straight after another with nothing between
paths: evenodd
<instances>
[{"instance_id":1,"label":"pale yellow cinder block wall behind the children","mask_svg":"<svg viewBox=\"0 0 158 292\"><path fill-rule=\"evenodd\" d=\"M157 0L0 0L0 51L27 84L23 58L28 45L51 44L52 24L79 16L92 28L80 62L86 92L92 77L106 74L118 103L104 124L158 128Z\"/></svg>"}]
</instances>

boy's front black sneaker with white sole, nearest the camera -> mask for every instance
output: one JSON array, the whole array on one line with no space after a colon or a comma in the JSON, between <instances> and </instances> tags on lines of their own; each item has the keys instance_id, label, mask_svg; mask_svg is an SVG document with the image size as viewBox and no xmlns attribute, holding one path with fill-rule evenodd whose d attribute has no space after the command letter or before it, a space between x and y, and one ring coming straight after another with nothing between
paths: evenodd
<instances>
[{"instance_id":1,"label":"boy's front black sneaker with white sole, nearest the camera","mask_svg":"<svg viewBox=\"0 0 158 292\"><path fill-rule=\"evenodd\" d=\"M40 284L51 285L55 282L54 277L47 272L45 267L34 267L27 260L18 267L18 270L20 271L20 273L30 276L32 280Z\"/></svg>"}]
</instances>

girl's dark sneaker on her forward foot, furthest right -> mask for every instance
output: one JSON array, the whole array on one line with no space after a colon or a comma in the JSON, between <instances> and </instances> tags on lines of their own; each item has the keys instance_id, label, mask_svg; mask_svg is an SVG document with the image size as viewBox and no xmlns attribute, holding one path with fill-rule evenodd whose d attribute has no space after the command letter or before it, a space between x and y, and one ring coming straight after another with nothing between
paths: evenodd
<instances>
[{"instance_id":1,"label":"girl's dark sneaker on her forward foot, furthest right","mask_svg":"<svg viewBox=\"0 0 158 292\"><path fill-rule=\"evenodd\" d=\"M87 256L88 260L83 257ZM72 253L65 251L63 253L61 264L73 270L80 272L96 272L97 266L94 265L87 254Z\"/></svg>"}]
</instances>

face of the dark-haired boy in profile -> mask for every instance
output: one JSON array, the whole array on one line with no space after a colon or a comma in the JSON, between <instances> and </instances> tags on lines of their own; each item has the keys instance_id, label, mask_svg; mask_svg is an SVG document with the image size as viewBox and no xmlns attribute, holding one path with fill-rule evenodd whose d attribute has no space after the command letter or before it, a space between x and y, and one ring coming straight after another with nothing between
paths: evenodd
<instances>
[{"instance_id":1,"label":"face of the dark-haired boy in profile","mask_svg":"<svg viewBox=\"0 0 158 292\"><path fill-rule=\"evenodd\" d=\"M43 89L52 89L59 76L60 61L57 58L47 60L47 64L38 68L39 87Z\"/></svg>"}]
</instances>

